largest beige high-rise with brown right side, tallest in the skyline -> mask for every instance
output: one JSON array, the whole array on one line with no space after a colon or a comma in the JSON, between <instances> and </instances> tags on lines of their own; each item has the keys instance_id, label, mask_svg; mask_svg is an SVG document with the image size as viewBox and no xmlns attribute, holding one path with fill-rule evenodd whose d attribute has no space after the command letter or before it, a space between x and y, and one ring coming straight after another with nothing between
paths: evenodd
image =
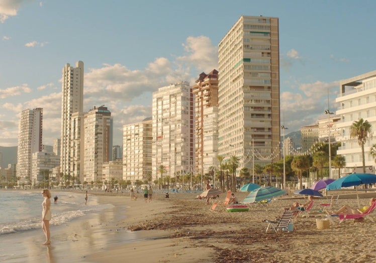
<instances>
[{"instance_id":1,"label":"largest beige high-rise with brown right side, tallest in the skyline","mask_svg":"<svg viewBox=\"0 0 376 263\"><path fill-rule=\"evenodd\" d=\"M239 169L252 150L255 163L279 160L278 18L241 16L218 51L219 154Z\"/></svg>"}]
</instances>

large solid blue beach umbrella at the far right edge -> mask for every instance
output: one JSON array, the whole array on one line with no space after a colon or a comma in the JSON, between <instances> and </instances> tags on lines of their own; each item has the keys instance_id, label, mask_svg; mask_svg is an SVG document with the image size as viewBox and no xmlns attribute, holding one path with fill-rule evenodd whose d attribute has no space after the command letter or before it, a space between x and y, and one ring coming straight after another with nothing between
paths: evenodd
<instances>
[{"instance_id":1,"label":"large solid blue beach umbrella at the far right edge","mask_svg":"<svg viewBox=\"0 0 376 263\"><path fill-rule=\"evenodd\" d=\"M376 175L374 174L349 174L335 180L326 186L326 190L341 189L342 187L357 186L361 184L376 183Z\"/></svg>"}]
</instances>

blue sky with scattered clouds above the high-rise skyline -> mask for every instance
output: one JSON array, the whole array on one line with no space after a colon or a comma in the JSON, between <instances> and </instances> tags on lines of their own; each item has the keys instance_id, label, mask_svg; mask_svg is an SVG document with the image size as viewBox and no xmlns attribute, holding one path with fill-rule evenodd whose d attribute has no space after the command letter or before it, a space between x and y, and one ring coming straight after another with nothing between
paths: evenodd
<instances>
[{"instance_id":1,"label":"blue sky with scattered clouds above the high-rise skyline","mask_svg":"<svg viewBox=\"0 0 376 263\"><path fill-rule=\"evenodd\" d=\"M287 135L335 112L341 79L376 70L375 12L346 0L0 0L0 146L17 146L21 111L36 107L43 144L60 138L62 68L79 60L83 110L107 106L122 145L123 125L151 116L152 92L218 69L218 43L242 15L279 18Z\"/></svg>"}]
</instances>

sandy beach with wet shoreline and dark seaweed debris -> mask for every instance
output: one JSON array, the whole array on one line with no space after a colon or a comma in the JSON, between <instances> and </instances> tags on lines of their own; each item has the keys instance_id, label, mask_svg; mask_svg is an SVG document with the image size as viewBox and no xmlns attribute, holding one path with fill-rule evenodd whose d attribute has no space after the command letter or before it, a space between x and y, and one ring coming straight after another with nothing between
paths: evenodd
<instances>
[{"instance_id":1,"label":"sandy beach with wet shoreline and dark seaweed debris","mask_svg":"<svg viewBox=\"0 0 376 263\"><path fill-rule=\"evenodd\" d=\"M92 195L93 193L89 193ZM248 193L236 193L243 200ZM292 199L276 199L267 209L250 205L248 212L227 212L224 206L195 200L197 193L157 194L151 203L139 195L96 193L112 208L51 226L51 245L42 230L0 237L11 252L7 262L372 262L376 261L375 223L345 220L318 229L316 219L325 218L315 199L311 216L294 220L292 232L268 231L263 219L275 219ZM370 195L376 197L376 192ZM154 194L155 196L155 194ZM223 200L222 194L219 200ZM330 197L329 197L330 199ZM90 200L90 198L89 198ZM303 199L299 200L304 202ZM360 198L360 206L369 198ZM338 199L335 208L357 199Z\"/></svg>"}]
</instances>

